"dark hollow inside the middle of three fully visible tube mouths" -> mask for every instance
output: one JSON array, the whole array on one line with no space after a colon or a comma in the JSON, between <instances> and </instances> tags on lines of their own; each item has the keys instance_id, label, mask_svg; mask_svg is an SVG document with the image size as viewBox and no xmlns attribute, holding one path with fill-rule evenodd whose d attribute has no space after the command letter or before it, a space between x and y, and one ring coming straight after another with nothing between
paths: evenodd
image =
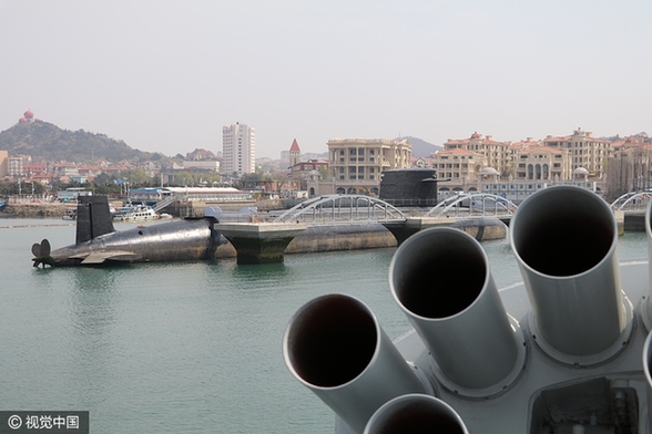
<instances>
[{"instance_id":1,"label":"dark hollow inside the middle of three fully visible tube mouths","mask_svg":"<svg viewBox=\"0 0 652 434\"><path fill-rule=\"evenodd\" d=\"M441 319L468 308L487 279L481 247L462 232L431 231L405 245L395 262L395 291L406 309Z\"/></svg>"}]
</instances>

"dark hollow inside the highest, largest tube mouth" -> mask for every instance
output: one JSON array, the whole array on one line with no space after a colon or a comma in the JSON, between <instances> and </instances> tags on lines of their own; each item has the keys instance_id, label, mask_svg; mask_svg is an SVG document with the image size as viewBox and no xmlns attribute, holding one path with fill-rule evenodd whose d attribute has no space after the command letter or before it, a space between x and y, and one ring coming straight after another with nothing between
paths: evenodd
<instances>
[{"instance_id":1,"label":"dark hollow inside the highest, largest tube mouth","mask_svg":"<svg viewBox=\"0 0 652 434\"><path fill-rule=\"evenodd\" d=\"M597 266L613 244L613 216L584 192L543 192L524 202L513 221L521 259L548 276L574 276Z\"/></svg>"}]
</instances>

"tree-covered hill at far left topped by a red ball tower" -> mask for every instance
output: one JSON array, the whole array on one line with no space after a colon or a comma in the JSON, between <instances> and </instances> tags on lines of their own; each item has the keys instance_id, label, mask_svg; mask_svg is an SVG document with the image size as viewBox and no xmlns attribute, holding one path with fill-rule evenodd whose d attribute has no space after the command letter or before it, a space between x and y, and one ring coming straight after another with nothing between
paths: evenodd
<instances>
[{"instance_id":1,"label":"tree-covered hill at far left topped by a red ball tower","mask_svg":"<svg viewBox=\"0 0 652 434\"><path fill-rule=\"evenodd\" d=\"M164 158L162 154L134 149L123 141L104 134L61 130L43 121L18 123L0 132L0 151L8 151L13 156L31 155L34 163L91 163L96 159L116 163L125 159L145 162Z\"/></svg>"}]
</instances>

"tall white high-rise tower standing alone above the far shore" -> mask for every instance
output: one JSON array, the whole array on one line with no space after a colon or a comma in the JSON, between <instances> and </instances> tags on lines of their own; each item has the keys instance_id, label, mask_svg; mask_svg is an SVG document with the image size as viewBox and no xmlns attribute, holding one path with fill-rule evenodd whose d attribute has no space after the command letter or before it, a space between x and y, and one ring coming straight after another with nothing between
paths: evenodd
<instances>
[{"instance_id":1,"label":"tall white high-rise tower standing alone above the far shore","mask_svg":"<svg viewBox=\"0 0 652 434\"><path fill-rule=\"evenodd\" d=\"M238 176L256 172L256 131L245 124L222 128L222 170Z\"/></svg>"}]
</instances>

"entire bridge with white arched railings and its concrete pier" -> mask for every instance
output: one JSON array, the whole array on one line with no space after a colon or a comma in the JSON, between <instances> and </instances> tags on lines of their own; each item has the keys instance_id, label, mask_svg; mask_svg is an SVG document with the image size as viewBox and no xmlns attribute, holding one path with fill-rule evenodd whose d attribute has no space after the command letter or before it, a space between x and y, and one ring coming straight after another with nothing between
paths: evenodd
<instances>
[{"instance_id":1,"label":"entire bridge with white arched railings and its concrete pier","mask_svg":"<svg viewBox=\"0 0 652 434\"><path fill-rule=\"evenodd\" d=\"M624 229L624 211L644 211L651 197L652 192L628 193L611 204L619 221L619 232ZM505 225L485 217L495 217L509 225L517 208L513 202L487 193L455 195L425 214L421 208L404 208L404 211L370 196L326 195L299 203L272 223L252 223L244 225L246 227L221 225L221 230L236 246L238 264L282 261L285 247L307 226L378 223L394 235L398 245L414 234L436 226L456 226L477 239L495 239L503 237ZM419 215L414 215L416 213Z\"/></svg>"}]
</instances>

